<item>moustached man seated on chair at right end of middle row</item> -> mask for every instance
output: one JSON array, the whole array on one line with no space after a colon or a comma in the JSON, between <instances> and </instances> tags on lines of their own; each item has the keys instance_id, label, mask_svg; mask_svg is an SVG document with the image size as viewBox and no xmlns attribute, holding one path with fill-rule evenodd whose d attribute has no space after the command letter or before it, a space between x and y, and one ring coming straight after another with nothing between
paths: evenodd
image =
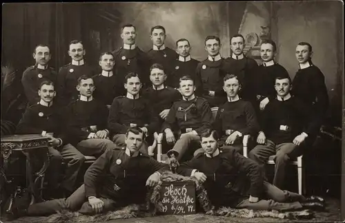
<instances>
[{"instance_id":1,"label":"moustached man seated on chair at right end of middle row","mask_svg":"<svg viewBox=\"0 0 345 223\"><path fill-rule=\"evenodd\" d=\"M261 131L257 146L248 153L262 167L274 155L275 177L273 184L282 189L288 160L302 154L302 148L309 136L315 134L311 108L296 96L290 95L291 80L286 76L275 78L277 97L264 109L260 122Z\"/></svg>"}]
</instances>

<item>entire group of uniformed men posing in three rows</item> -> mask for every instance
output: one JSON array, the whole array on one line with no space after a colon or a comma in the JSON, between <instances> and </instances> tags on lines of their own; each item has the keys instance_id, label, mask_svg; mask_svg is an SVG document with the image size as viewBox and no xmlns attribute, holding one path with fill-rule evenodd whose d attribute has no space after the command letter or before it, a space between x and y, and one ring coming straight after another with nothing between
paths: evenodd
<instances>
[{"instance_id":1,"label":"entire group of uniformed men posing in three rows","mask_svg":"<svg viewBox=\"0 0 345 223\"><path fill-rule=\"evenodd\" d=\"M191 58L187 39L177 40L176 50L166 47L161 25L151 28L153 47L147 53L135 44L136 35L134 25L124 25L123 47L101 54L98 73L84 61L81 41L70 42L72 61L58 74L48 67L49 47L34 49L36 65L22 78L30 106L17 133L50 138L48 197L56 198L59 190L64 198L32 204L26 213L99 213L144 198L145 185L155 186L169 170L148 149L159 134L168 161L179 165L177 173L204 183L216 206L324 207L322 198L281 190L286 163L315 140L328 107L324 74L311 61L309 43L296 47L299 69L292 81L275 62L277 48L270 40L262 41L258 66L244 55L241 34L232 36L227 59L219 54L219 37L207 36L208 57L201 62ZM253 145L248 158L242 156L246 135ZM275 186L264 171L272 155ZM84 156L97 160L75 191ZM67 163L63 182L61 159Z\"/></svg>"}]
</instances>

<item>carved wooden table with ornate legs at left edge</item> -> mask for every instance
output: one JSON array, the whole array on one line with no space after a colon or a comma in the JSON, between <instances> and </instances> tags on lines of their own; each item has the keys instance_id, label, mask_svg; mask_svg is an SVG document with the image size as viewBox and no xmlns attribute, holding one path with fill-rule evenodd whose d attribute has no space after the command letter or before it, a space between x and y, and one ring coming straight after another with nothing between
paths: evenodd
<instances>
[{"instance_id":1,"label":"carved wooden table with ornate legs at left edge","mask_svg":"<svg viewBox=\"0 0 345 223\"><path fill-rule=\"evenodd\" d=\"M6 213L12 214L12 205L14 198L21 193L22 188L19 186L19 178L24 176L17 174L12 175L11 160L19 159L19 162L26 162L26 187L31 193L31 204L35 201L42 200L42 189L44 174L48 168L48 138L38 134L29 135L12 135L1 137L1 185L9 186L10 202ZM34 169L39 158L40 163L38 171ZM3 202L3 200L1 200Z\"/></svg>"}]
</instances>

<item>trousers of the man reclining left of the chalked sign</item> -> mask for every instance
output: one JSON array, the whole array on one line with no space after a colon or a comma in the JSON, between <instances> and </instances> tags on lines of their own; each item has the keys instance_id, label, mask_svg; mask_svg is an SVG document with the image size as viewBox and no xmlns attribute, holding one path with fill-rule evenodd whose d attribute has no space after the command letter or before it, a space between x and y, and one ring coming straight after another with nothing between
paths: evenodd
<instances>
[{"instance_id":1,"label":"trousers of the man reclining left of the chalked sign","mask_svg":"<svg viewBox=\"0 0 345 223\"><path fill-rule=\"evenodd\" d=\"M104 202L103 213L116 209L119 205L115 200L108 198L99 198ZM28 215L51 215L63 210L78 211L84 215L94 215L95 211L92 209L88 198L85 195L85 186L81 185L68 198L48 200L46 202L31 204L28 208Z\"/></svg>"}]
</instances>

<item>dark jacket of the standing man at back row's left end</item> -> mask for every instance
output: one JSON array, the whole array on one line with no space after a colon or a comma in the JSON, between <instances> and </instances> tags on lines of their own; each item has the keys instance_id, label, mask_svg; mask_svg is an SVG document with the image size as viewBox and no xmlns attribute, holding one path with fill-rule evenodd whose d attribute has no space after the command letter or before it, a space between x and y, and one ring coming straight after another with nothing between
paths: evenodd
<instances>
[{"instance_id":1,"label":"dark jacket of the standing man at back row's left end","mask_svg":"<svg viewBox=\"0 0 345 223\"><path fill-rule=\"evenodd\" d=\"M23 84L24 93L28 99L29 105L35 105L41 99L38 95L39 85L42 81L52 81L56 83L57 72L52 67L48 67L46 70L39 69L37 65L28 67L21 78Z\"/></svg>"}]
</instances>

